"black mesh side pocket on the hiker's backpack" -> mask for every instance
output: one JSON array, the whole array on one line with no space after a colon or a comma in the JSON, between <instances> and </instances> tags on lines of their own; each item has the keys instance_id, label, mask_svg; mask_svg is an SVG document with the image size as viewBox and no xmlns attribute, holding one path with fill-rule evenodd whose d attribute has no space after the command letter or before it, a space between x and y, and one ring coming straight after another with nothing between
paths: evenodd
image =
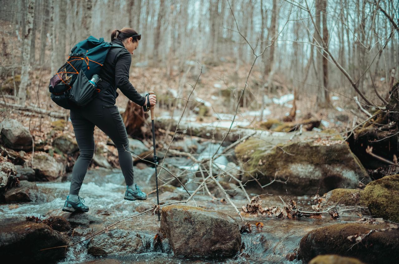
<instances>
[{"instance_id":1,"label":"black mesh side pocket on the hiker's backpack","mask_svg":"<svg viewBox=\"0 0 399 264\"><path fill-rule=\"evenodd\" d=\"M79 106L87 105L93 99L95 89L94 85L89 82L85 73L81 70L69 90L69 100Z\"/></svg>"}]
</instances>

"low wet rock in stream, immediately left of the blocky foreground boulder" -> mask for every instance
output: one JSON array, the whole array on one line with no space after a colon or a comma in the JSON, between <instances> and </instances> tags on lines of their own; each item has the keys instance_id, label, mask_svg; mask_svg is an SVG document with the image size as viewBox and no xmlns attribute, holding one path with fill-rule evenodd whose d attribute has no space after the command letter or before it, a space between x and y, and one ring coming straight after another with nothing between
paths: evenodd
<instances>
[{"instance_id":1,"label":"low wet rock in stream, immediately left of the blocky foreground boulder","mask_svg":"<svg viewBox=\"0 0 399 264\"><path fill-rule=\"evenodd\" d=\"M154 234L150 232L115 228L95 236L90 241L87 253L93 256L140 254L148 251L152 240Z\"/></svg>"}]
</instances>

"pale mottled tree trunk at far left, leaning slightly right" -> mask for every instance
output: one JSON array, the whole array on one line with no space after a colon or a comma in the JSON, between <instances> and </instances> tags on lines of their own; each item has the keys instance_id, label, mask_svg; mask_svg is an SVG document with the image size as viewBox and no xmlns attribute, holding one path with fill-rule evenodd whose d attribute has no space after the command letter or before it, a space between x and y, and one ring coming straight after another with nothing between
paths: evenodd
<instances>
[{"instance_id":1,"label":"pale mottled tree trunk at far left, leaning slightly right","mask_svg":"<svg viewBox=\"0 0 399 264\"><path fill-rule=\"evenodd\" d=\"M26 19L26 29L24 36L24 44L22 47L22 69L21 69L21 83L18 90L18 104L25 105L26 101L26 86L28 86L29 71L30 71L30 44L32 42L32 27L33 18L35 15L35 0L29 0L28 17Z\"/></svg>"}]
</instances>

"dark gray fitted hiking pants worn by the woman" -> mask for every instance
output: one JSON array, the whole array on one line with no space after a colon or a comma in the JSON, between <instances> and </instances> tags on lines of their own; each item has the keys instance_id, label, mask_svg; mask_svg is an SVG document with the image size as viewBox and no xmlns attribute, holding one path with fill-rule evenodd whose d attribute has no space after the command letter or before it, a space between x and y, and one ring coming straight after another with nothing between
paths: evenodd
<instances>
[{"instance_id":1,"label":"dark gray fitted hiking pants worn by the woman","mask_svg":"<svg viewBox=\"0 0 399 264\"><path fill-rule=\"evenodd\" d=\"M79 195L87 168L94 154L94 126L107 134L118 149L119 164L126 185L133 184L133 161L129 150L129 141L122 117L116 105L109 105L99 99L93 99L81 109L71 109L71 121L80 155L72 169L70 195ZM127 151L125 151L125 149Z\"/></svg>"}]
</instances>

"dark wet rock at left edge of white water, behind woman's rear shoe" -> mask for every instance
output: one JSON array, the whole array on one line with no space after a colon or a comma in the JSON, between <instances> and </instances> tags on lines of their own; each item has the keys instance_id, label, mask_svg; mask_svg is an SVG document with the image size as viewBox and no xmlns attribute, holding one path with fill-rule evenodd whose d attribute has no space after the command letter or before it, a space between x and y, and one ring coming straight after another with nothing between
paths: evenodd
<instances>
[{"instance_id":1,"label":"dark wet rock at left edge of white water, behind woman's rear shoe","mask_svg":"<svg viewBox=\"0 0 399 264\"><path fill-rule=\"evenodd\" d=\"M35 202L39 198L36 183L20 181L20 187L14 187L4 193L6 202Z\"/></svg>"}]
</instances>

